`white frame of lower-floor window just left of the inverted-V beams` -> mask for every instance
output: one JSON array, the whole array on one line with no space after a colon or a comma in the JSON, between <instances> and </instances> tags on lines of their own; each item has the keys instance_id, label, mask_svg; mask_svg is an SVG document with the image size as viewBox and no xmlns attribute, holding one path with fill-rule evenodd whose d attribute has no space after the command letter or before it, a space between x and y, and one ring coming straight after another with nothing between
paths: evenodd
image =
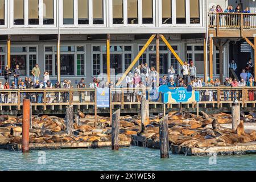
<instances>
[{"instance_id":1,"label":"white frame of lower-floor window just left of the inverted-V beams","mask_svg":"<svg viewBox=\"0 0 256 182\"><path fill-rule=\"evenodd\" d=\"M93 51L94 46L100 46L100 51ZM100 73L103 73L103 55L106 54L106 51L102 51L102 46L105 46L105 45L104 44L92 44L92 49L91 49L92 77L97 76L97 75L93 75L93 54L94 53L100 54ZM122 72L124 73L125 72L125 54L130 53L131 54L131 61L133 61L133 59L134 59L133 44L114 43L114 44L111 44L111 46L122 46L122 51L110 51L110 54L115 53L115 54L121 54L122 55ZM125 46L131 46L131 51L125 51Z\"/></svg>"}]
</instances>

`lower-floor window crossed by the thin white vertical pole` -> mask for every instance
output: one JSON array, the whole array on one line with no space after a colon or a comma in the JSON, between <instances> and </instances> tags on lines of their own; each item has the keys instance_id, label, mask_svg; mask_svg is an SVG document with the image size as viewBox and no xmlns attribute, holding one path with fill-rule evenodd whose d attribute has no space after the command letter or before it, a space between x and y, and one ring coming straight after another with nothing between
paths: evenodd
<instances>
[{"instance_id":1,"label":"lower-floor window crossed by the thin white vertical pole","mask_svg":"<svg viewBox=\"0 0 256 182\"><path fill-rule=\"evenodd\" d=\"M44 47L45 71L51 76L57 75L57 48ZM85 76L85 46L60 47L60 75Z\"/></svg>"}]
</instances>

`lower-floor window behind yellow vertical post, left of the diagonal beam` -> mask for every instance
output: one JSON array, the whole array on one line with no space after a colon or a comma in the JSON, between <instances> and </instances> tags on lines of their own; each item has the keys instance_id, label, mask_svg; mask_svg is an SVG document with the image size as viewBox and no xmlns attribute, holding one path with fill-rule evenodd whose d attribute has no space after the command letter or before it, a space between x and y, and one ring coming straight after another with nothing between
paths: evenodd
<instances>
[{"instance_id":1,"label":"lower-floor window behind yellow vertical post, left of the diagonal beam","mask_svg":"<svg viewBox=\"0 0 256 182\"><path fill-rule=\"evenodd\" d=\"M110 69L112 74L122 73L129 67L133 56L132 50L129 45L110 46ZM106 46L93 46L92 71L93 75L107 73Z\"/></svg>"}]
</instances>

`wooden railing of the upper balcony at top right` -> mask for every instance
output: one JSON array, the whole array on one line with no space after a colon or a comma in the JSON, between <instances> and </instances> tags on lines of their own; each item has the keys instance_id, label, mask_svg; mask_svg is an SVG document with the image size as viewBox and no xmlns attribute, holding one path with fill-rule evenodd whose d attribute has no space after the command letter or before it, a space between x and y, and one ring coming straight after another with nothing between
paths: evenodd
<instances>
[{"instance_id":1,"label":"wooden railing of the upper balcony at top right","mask_svg":"<svg viewBox=\"0 0 256 182\"><path fill-rule=\"evenodd\" d=\"M208 13L209 28L256 28L256 14L252 13Z\"/></svg>"}]
</instances>

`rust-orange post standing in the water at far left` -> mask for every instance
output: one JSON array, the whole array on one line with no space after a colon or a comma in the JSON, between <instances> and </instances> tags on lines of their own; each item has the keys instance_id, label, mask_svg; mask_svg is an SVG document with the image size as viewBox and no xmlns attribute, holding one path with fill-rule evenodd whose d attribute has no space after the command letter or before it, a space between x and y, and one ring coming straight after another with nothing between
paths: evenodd
<instances>
[{"instance_id":1,"label":"rust-orange post standing in the water at far left","mask_svg":"<svg viewBox=\"0 0 256 182\"><path fill-rule=\"evenodd\" d=\"M22 152L29 151L30 142L30 100L23 100Z\"/></svg>"}]
</instances>

